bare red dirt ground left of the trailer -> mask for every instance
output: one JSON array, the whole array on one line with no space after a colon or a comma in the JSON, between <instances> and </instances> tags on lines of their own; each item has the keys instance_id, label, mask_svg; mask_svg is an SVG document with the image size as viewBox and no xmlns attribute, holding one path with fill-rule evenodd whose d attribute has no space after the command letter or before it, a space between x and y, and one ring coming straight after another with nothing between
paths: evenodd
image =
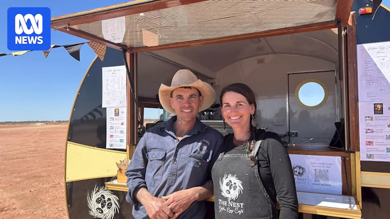
<instances>
[{"instance_id":1,"label":"bare red dirt ground left of the trailer","mask_svg":"<svg viewBox=\"0 0 390 219\"><path fill-rule=\"evenodd\" d=\"M67 219L67 124L0 126L0 218Z\"/></svg>"}]
</instances>

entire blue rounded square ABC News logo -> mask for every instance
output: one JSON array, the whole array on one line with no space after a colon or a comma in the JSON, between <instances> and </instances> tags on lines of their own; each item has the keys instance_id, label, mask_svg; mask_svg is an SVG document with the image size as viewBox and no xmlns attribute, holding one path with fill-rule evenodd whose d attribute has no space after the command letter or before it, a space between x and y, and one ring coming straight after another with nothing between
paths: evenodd
<instances>
[{"instance_id":1,"label":"entire blue rounded square ABC News logo","mask_svg":"<svg viewBox=\"0 0 390 219\"><path fill-rule=\"evenodd\" d=\"M9 50L50 49L50 9L47 7L11 7L7 11Z\"/></svg>"}]
</instances>

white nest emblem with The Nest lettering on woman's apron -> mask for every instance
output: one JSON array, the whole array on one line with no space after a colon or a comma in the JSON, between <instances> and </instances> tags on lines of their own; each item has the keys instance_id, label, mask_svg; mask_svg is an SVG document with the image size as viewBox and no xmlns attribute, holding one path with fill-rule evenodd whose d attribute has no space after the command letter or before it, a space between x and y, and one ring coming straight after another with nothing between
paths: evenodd
<instances>
[{"instance_id":1,"label":"white nest emblem with The Nest lettering on woman's apron","mask_svg":"<svg viewBox=\"0 0 390 219\"><path fill-rule=\"evenodd\" d=\"M218 200L219 211L227 212L229 214L239 214L244 213L244 203L235 202L239 195L243 193L243 183L239 180L236 175L225 175L220 178L220 189L221 195L227 200Z\"/></svg>"}]
</instances>

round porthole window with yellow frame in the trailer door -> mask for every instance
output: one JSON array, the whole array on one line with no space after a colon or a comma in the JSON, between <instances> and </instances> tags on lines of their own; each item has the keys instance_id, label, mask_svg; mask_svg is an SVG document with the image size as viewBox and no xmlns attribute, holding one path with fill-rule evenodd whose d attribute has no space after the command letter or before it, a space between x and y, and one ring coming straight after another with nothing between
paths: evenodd
<instances>
[{"instance_id":1,"label":"round porthole window with yellow frame in the trailer door","mask_svg":"<svg viewBox=\"0 0 390 219\"><path fill-rule=\"evenodd\" d=\"M296 87L295 99L305 109L318 109L328 100L328 88L318 79L306 79Z\"/></svg>"}]
</instances>

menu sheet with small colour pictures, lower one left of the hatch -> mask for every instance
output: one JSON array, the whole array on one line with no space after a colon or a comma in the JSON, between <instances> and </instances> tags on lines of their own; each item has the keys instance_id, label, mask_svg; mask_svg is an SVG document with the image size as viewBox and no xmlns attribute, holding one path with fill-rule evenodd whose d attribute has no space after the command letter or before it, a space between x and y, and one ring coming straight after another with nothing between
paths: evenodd
<instances>
[{"instance_id":1,"label":"menu sheet with small colour pictures, lower one left of the hatch","mask_svg":"<svg viewBox=\"0 0 390 219\"><path fill-rule=\"evenodd\" d=\"M126 107L107 109L106 148L126 150Z\"/></svg>"}]
</instances>

